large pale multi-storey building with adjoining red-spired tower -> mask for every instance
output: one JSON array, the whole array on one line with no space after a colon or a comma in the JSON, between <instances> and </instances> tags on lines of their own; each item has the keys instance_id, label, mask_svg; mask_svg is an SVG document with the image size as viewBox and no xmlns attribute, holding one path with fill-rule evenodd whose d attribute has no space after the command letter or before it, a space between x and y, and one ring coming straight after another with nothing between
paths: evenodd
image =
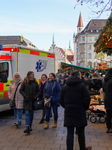
<instances>
[{"instance_id":1,"label":"large pale multi-storey building with adjoining red-spired tower","mask_svg":"<svg viewBox=\"0 0 112 150\"><path fill-rule=\"evenodd\" d=\"M107 62L108 67L111 66L110 56L104 54L104 59L102 57L98 58L98 54L94 52L94 43L106 25L106 21L106 19L92 19L83 29L83 21L80 13L77 34L73 36L75 65L97 68L98 62Z\"/></svg>"}]
</instances>

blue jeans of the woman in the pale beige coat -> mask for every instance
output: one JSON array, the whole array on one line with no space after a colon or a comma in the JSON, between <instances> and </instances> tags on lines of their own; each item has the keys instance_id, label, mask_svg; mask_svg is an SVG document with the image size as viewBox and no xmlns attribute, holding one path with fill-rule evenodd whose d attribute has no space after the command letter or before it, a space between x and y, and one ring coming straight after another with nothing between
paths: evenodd
<instances>
[{"instance_id":1,"label":"blue jeans of the woman in the pale beige coat","mask_svg":"<svg viewBox=\"0 0 112 150\"><path fill-rule=\"evenodd\" d=\"M21 124L22 113L23 113L23 109L14 108L14 116L15 116L15 122L14 123Z\"/></svg>"}]
</instances>

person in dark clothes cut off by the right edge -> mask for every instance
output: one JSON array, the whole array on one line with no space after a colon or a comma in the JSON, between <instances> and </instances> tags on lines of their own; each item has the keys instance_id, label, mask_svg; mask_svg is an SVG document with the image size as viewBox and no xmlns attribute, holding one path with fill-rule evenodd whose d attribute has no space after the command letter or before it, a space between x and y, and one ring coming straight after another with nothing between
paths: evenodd
<instances>
[{"instance_id":1,"label":"person in dark clothes cut off by the right edge","mask_svg":"<svg viewBox=\"0 0 112 150\"><path fill-rule=\"evenodd\" d=\"M104 78L104 104L106 108L106 126L107 131L106 133L112 133L112 123L111 123L111 116L112 116L112 69L110 69L105 78Z\"/></svg>"}]
</instances>

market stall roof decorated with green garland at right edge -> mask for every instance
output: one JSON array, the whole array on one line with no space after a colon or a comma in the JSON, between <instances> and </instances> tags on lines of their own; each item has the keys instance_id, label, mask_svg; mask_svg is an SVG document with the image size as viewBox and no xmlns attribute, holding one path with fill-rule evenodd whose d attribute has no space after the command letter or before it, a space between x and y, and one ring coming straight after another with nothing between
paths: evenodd
<instances>
[{"instance_id":1,"label":"market stall roof decorated with green garland at right edge","mask_svg":"<svg viewBox=\"0 0 112 150\"><path fill-rule=\"evenodd\" d=\"M112 12L99 38L95 42L94 47L96 53L103 52L107 53L107 55L112 54Z\"/></svg>"}]
</instances>

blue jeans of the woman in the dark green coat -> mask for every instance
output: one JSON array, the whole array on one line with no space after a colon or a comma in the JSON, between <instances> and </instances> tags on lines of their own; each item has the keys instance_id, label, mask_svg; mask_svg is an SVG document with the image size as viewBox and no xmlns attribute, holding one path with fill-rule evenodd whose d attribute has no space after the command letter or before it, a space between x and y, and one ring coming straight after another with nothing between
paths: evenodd
<instances>
[{"instance_id":1,"label":"blue jeans of the woman in the dark green coat","mask_svg":"<svg viewBox=\"0 0 112 150\"><path fill-rule=\"evenodd\" d=\"M25 121L26 121L26 126L29 126L33 122L33 117L34 117L34 111L31 110L25 110Z\"/></svg>"}]
</instances>

